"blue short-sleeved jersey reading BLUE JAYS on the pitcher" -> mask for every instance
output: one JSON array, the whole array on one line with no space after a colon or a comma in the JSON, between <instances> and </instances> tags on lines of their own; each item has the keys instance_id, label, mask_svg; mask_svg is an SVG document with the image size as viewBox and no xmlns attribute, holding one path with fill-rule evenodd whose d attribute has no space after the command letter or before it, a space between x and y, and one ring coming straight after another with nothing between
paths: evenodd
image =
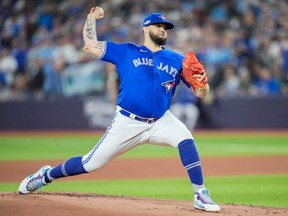
<instances>
[{"instance_id":1,"label":"blue short-sleeved jersey reading BLUE JAYS on the pitcher","mask_svg":"<svg viewBox=\"0 0 288 216\"><path fill-rule=\"evenodd\" d=\"M116 65L117 105L145 118L160 118L180 82L184 56L169 49L153 53L144 45L105 42L99 59Z\"/></svg>"}]
</instances>

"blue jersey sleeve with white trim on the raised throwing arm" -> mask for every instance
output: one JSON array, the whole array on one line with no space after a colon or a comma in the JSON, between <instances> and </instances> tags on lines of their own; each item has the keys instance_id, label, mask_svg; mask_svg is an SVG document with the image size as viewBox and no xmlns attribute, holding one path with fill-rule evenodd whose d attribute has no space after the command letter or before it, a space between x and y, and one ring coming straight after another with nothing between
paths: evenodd
<instances>
[{"instance_id":1,"label":"blue jersey sleeve with white trim on the raised throwing arm","mask_svg":"<svg viewBox=\"0 0 288 216\"><path fill-rule=\"evenodd\" d=\"M112 64L119 64L123 62L128 49L128 43L114 43L105 42L103 54L99 57L99 60L110 62Z\"/></svg>"}]
</instances>

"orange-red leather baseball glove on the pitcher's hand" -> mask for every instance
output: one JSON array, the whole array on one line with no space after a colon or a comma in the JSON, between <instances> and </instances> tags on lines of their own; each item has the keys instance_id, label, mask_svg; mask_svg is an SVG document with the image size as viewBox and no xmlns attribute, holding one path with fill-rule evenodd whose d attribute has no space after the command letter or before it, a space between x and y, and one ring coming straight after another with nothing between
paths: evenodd
<instances>
[{"instance_id":1,"label":"orange-red leather baseball glove on the pitcher's hand","mask_svg":"<svg viewBox=\"0 0 288 216\"><path fill-rule=\"evenodd\" d=\"M204 66L198 61L194 52L188 52L182 62L182 77L194 89L203 89L208 82Z\"/></svg>"}]
</instances>

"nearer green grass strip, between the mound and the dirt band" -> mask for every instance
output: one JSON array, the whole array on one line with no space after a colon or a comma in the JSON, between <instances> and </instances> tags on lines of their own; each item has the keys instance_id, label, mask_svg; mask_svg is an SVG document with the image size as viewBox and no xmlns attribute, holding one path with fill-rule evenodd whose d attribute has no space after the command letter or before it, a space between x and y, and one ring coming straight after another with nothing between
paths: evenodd
<instances>
[{"instance_id":1,"label":"nearer green grass strip, between the mound and the dirt band","mask_svg":"<svg viewBox=\"0 0 288 216\"><path fill-rule=\"evenodd\" d=\"M205 184L218 203L288 208L288 175L207 177ZM16 191L17 187L0 184L0 192ZM193 200L188 179L55 181L42 191Z\"/></svg>"}]
</instances>

